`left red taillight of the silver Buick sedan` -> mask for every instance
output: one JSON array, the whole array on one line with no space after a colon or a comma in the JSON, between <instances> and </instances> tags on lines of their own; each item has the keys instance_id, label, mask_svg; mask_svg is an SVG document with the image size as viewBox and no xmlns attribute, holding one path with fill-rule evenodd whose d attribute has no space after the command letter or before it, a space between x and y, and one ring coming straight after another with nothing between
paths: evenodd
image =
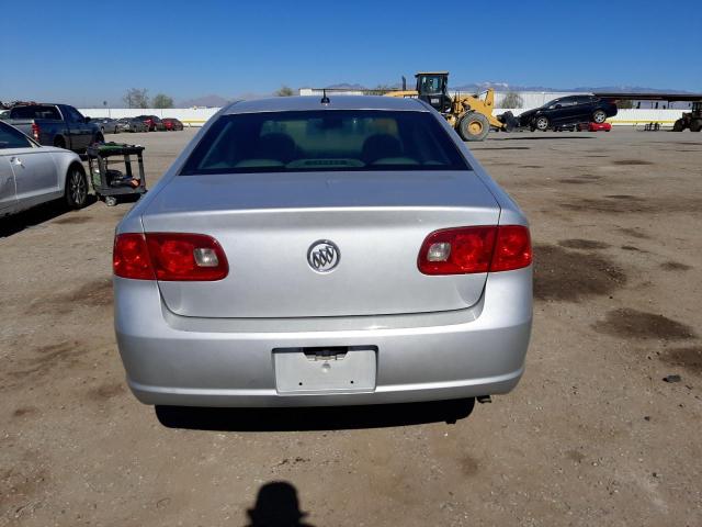
<instances>
[{"instance_id":1,"label":"left red taillight of the silver Buick sedan","mask_svg":"<svg viewBox=\"0 0 702 527\"><path fill-rule=\"evenodd\" d=\"M213 281L229 272L222 246L204 234L120 234L113 270L136 280Z\"/></svg>"}]
</instances>

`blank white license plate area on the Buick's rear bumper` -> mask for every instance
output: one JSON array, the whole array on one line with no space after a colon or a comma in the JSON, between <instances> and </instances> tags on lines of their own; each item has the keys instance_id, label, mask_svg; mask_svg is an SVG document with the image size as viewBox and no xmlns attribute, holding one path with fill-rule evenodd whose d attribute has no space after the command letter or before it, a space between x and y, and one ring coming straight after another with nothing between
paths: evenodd
<instances>
[{"instance_id":1,"label":"blank white license plate area on the Buick's rear bumper","mask_svg":"<svg viewBox=\"0 0 702 527\"><path fill-rule=\"evenodd\" d=\"M375 389L375 346L276 348L275 388L291 392L367 392Z\"/></svg>"}]
</instances>

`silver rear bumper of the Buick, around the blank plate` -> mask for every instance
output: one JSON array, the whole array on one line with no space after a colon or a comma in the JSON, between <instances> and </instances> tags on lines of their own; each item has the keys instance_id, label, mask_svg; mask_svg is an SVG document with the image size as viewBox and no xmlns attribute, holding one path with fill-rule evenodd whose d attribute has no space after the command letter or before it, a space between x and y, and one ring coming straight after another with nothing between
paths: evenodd
<instances>
[{"instance_id":1,"label":"silver rear bumper of the Buick, around the blank plate","mask_svg":"<svg viewBox=\"0 0 702 527\"><path fill-rule=\"evenodd\" d=\"M475 306L419 315L199 319L173 315L155 282L115 278L115 330L128 384L146 404L327 406L507 393L523 372L531 268L488 277ZM276 390L274 348L374 346L376 385Z\"/></svg>"}]
</instances>

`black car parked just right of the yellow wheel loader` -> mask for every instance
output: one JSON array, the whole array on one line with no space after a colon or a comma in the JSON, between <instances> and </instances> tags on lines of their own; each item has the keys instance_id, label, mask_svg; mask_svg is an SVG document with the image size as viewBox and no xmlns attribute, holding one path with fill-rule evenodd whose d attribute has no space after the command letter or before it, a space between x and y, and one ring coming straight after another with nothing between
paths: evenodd
<instances>
[{"instance_id":1,"label":"black car parked just right of the yellow wheel loader","mask_svg":"<svg viewBox=\"0 0 702 527\"><path fill-rule=\"evenodd\" d=\"M616 115L616 104L595 96L569 96L554 99L541 108L529 110L519 115L520 126L532 132L564 124L603 123L607 117Z\"/></svg>"}]
</instances>

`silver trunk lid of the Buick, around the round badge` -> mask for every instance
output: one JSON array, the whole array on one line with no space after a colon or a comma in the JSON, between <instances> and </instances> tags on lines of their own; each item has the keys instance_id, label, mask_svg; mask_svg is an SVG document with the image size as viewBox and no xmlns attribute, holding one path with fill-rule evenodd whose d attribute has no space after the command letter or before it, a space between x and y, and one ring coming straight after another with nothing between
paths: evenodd
<instances>
[{"instance_id":1,"label":"silver trunk lid of the Buick, around the round badge","mask_svg":"<svg viewBox=\"0 0 702 527\"><path fill-rule=\"evenodd\" d=\"M314 317L458 310L486 273L426 276L431 232L496 225L499 206L472 171L177 176L143 215L145 232L215 237L229 274L159 282L170 311L197 317ZM339 250L330 272L308 261L315 243Z\"/></svg>"}]
</instances>

